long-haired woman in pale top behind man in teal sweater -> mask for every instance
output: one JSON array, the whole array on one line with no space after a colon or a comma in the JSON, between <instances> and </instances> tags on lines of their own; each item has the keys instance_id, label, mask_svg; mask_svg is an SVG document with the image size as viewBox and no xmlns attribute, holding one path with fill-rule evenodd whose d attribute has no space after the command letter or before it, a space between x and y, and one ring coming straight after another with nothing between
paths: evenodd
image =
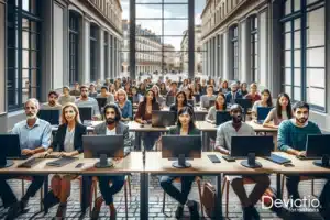
<instances>
[{"instance_id":1,"label":"long-haired woman in pale top behind man in teal sweater","mask_svg":"<svg viewBox=\"0 0 330 220\"><path fill-rule=\"evenodd\" d=\"M287 94L279 94L276 107L272 109L265 119L263 127L278 129L282 121L293 118L293 109L290 98ZM273 121L274 123L271 123Z\"/></svg>"}]
</instances>

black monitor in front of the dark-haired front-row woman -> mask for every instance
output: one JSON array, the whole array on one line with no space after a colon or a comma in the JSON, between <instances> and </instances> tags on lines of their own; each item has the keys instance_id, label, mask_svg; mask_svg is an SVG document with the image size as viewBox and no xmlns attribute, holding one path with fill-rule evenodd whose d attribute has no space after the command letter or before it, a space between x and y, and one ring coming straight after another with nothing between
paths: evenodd
<instances>
[{"instance_id":1,"label":"black monitor in front of the dark-haired front-row woman","mask_svg":"<svg viewBox=\"0 0 330 220\"><path fill-rule=\"evenodd\" d=\"M162 157L178 158L172 165L177 168L190 167L186 157L201 157L201 136L200 135L164 135L162 136Z\"/></svg>"}]
</instances>

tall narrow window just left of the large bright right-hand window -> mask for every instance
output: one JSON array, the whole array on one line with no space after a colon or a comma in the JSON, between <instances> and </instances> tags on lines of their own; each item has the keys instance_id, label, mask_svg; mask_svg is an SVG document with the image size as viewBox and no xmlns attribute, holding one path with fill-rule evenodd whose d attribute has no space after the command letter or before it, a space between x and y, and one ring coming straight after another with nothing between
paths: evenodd
<instances>
[{"instance_id":1,"label":"tall narrow window just left of the large bright right-hand window","mask_svg":"<svg viewBox=\"0 0 330 220\"><path fill-rule=\"evenodd\" d=\"M249 19L250 22L250 33L251 33L251 76L252 81L258 81L257 74L257 52L258 52L258 43L257 43L257 16L252 15Z\"/></svg>"}]
</instances>

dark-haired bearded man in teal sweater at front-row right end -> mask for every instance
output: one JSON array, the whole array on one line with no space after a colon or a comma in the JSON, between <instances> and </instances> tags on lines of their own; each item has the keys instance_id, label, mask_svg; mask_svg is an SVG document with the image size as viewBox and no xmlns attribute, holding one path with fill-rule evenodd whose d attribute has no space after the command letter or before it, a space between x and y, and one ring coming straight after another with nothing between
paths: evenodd
<instances>
[{"instance_id":1,"label":"dark-haired bearded man in teal sweater at front-row right end","mask_svg":"<svg viewBox=\"0 0 330 220\"><path fill-rule=\"evenodd\" d=\"M306 141L308 134L321 134L319 127L308 121L309 117L309 105L302 101L298 101L293 107L294 119L283 121L278 128L278 148L289 154L306 156ZM314 178L327 178L328 183L324 185L324 188L320 195L320 205L322 209L329 206L326 199L329 199L329 195L326 195L326 191L329 191L329 176L314 176ZM298 184L300 182L299 175L288 175L286 176L286 188L288 191L288 197L293 199L299 199ZM327 188L328 187L328 188ZM298 200L299 201L299 200ZM327 218L326 218L327 219Z\"/></svg>"}]
</instances>

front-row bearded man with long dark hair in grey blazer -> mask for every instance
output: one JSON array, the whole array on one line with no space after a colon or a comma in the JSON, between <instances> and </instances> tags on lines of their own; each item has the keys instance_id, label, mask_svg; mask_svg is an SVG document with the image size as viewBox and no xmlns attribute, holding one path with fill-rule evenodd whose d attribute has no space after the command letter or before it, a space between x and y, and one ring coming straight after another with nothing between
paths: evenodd
<instances>
[{"instance_id":1,"label":"front-row bearded man with long dark hair in grey blazer","mask_svg":"<svg viewBox=\"0 0 330 220\"><path fill-rule=\"evenodd\" d=\"M130 151L129 127L120 121L121 111L116 103L108 103L103 110L106 121L98 124L94 133L98 135L123 134L124 152ZM113 195L119 193L124 185L125 176L99 176L99 187L103 198L96 199L92 210L92 219L97 219L101 209L102 201L110 208L110 219L116 219L117 210L113 205ZM111 186L110 186L111 183Z\"/></svg>"}]
</instances>

